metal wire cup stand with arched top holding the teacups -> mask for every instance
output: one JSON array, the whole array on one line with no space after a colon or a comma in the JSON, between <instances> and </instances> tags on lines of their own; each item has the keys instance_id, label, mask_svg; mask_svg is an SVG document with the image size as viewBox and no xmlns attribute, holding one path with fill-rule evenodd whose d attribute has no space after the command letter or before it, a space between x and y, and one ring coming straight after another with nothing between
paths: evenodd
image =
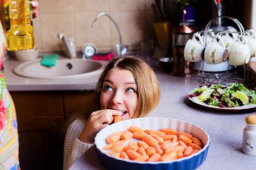
<instances>
[{"instance_id":1,"label":"metal wire cup stand with arched top holding the teacups","mask_svg":"<svg viewBox=\"0 0 256 170\"><path fill-rule=\"evenodd\" d=\"M230 16L217 16L216 18L213 18L212 20L210 20L210 22L205 27L205 30L203 31L205 46L207 45L208 33L212 32L212 30L210 29L210 25L212 25L214 20L219 19L219 18L230 19L234 23L236 23L238 28L239 28L239 32L225 31L225 33L246 33L245 29L242 26L242 24L236 18L232 18ZM221 35L222 33L224 33L224 32L219 32L218 34ZM218 84L218 83L228 84L230 82L240 82L240 83L243 83L247 79L249 79L249 67L247 66L247 64L243 65L243 74L242 74L243 77L242 78L241 78L241 76L237 75L237 66L234 66L234 71L229 71L230 67L231 67L231 65L229 65L227 67L227 70L222 72L222 73L205 73L203 71L204 61L201 61L200 65L199 65L199 68L197 69L198 70L197 74L198 74L198 76L200 76L202 78L204 84L207 84L207 83L210 83L210 84Z\"/></svg>"}]
</instances>

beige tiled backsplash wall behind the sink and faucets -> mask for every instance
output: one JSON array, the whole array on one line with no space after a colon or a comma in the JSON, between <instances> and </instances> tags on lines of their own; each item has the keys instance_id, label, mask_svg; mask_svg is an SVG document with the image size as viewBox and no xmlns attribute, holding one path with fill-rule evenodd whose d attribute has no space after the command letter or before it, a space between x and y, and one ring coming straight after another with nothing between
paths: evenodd
<instances>
[{"instance_id":1,"label":"beige tiled backsplash wall behind the sink and faucets","mask_svg":"<svg viewBox=\"0 0 256 170\"><path fill-rule=\"evenodd\" d=\"M34 20L35 44L42 52L60 51L57 33L75 37L77 50L93 43L99 50L112 49L119 43L118 33L109 18L102 17L96 27L92 22L106 12L117 22L123 44L139 49L144 39L154 39L154 0L38 0L39 16Z\"/></svg>"}]
</instances>

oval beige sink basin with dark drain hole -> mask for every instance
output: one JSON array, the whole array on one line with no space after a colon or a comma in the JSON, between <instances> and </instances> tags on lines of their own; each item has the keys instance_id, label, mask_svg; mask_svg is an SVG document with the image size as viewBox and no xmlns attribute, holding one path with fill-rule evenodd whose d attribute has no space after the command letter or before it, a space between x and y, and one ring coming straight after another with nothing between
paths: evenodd
<instances>
[{"instance_id":1,"label":"oval beige sink basin with dark drain hole","mask_svg":"<svg viewBox=\"0 0 256 170\"><path fill-rule=\"evenodd\" d=\"M14 68L14 73L28 78L64 79L100 75L103 69L101 62L91 59L57 59L52 67L42 66L40 61L24 62Z\"/></svg>"}]
</instances>

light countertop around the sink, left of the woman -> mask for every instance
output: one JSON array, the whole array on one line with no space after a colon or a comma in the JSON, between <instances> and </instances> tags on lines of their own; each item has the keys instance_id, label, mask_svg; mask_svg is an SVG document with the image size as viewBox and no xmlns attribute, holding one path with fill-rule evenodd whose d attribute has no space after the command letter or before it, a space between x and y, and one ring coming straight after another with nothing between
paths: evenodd
<instances>
[{"instance_id":1,"label":"light countertop around the sink, left of the woman","mask_svg":"<svg viewBox=\"0 0 256 170\"><path fill-rule=\"evenodd\" d=\"M103 65L106 61L100 61ZM2 71L6 78L9 91L50 91L50 90L94 90L98 76L88 76L86 78L72 79L34 79L16 75L13 69L22 62L15 58L7 59L3 62Z\"/></svg>"}]
</instances>

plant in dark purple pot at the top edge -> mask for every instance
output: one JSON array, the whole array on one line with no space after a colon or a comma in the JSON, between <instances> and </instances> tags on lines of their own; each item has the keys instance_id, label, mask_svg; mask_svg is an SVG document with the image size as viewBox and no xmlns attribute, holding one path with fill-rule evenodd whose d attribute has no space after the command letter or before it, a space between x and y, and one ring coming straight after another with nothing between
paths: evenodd
<instances>
[{"instance_id":1,"label":"plant in dark purple pot at the top edge","mask_svg":"<svg viewBox=\"0 0 256 170\"><path fill-rule=\"evenodd\" d=\"M196 20L197 5L203 2L203 0L175 0L175 2L181 9L181 16L183 15L184 10L186 11L184 16L185 21L193 22Z\"/></svg>"}]
</instances>

